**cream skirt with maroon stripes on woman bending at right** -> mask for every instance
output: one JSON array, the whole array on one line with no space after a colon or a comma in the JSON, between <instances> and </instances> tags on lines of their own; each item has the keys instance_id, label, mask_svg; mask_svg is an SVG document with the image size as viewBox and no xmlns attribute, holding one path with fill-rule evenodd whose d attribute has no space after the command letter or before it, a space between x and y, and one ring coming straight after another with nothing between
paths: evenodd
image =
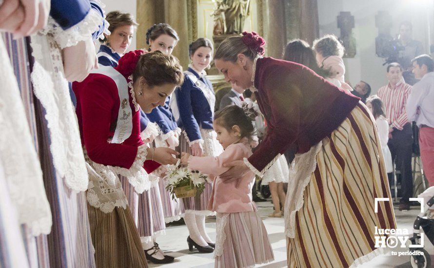
<instances>
[{"instance_id":1,"label":"cream skirt with maroon stripes on woman bending at right","mask_svg":"<svg viewBox=\"0 0 434 268\"><path fill-rule=\"evenodd\" d=\"M396 228L375 120L359 103L293 161L285 225L288 267L350 267L382 253L375 227ZM380 202L375 213L375 198Z\"/></svg>"}]
</instances>

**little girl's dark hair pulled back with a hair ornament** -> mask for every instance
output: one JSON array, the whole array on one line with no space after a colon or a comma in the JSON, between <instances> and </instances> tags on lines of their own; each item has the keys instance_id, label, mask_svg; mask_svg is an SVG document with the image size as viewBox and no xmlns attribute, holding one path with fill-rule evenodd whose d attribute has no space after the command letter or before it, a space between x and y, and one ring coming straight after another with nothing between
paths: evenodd
<instances>
[{"instance_id":1,"label":"little girl's dark hair pulled back with a hair ornament","mask_svg":"<svg viewBox=\"0 0 434 268\"><path fill-rule=\"evenodd\" d=\"M233 126L238 126L241 134L240 138L247 137L252 140L252 136L255 135L255 128L252 124L255 117L255 110L247 108L247 104L243 104L243 108L237 105L229 105L216 112L214 121L228 131L232 131Z\"/></svg>"}]
</instances>

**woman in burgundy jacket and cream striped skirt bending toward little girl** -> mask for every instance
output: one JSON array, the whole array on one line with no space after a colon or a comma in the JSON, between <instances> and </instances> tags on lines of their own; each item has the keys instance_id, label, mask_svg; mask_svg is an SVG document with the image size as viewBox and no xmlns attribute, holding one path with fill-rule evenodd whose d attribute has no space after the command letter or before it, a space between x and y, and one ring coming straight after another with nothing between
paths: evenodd
<instances>
[{"instance_id":1,"label":"woman in burgundy jacket and cream striped skirt bending toward little girl","mask_svg":"<svg viewBox=\"0 0 434 268\"><path fill-rule=\"evenodd\" d=\"M309 68L264 54L256 33L226 38L215 56L227 82L256 91L269 131L220 177L262 176L296 148L285 203L288 267L349 267L379 254L375 227L395 228L375 120L355 97ZM306 202L304 202L306 201ZM318 242L320 241L320 242ZM363 257L363 258L362 258Z\"/></svg>"}]
</instances>

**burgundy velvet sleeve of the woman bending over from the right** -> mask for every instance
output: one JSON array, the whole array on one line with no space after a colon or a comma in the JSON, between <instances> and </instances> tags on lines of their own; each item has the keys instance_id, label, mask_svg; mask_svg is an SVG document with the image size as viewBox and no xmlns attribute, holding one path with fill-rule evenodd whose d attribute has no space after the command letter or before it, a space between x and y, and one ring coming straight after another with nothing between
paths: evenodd
<instances>
[{"instance_id":1,"label":"burgundy velvet sleeve of the woman bending over from the right","mask_svg":"<svg viewBox=\"0 0 434 268\"><path fill-rule=\"evenodd\" d=\"M300 124L300 89L292 86L284 69L275 70L265 79L264 90L259 93L261 102L269 107L268 131L265 139L248 161L257 171L262 172L267 164L284 153L296 140ZM279 81L276 83L276 81ZM266 110L267 107L264 107Z\"/></svg>"}]
</instances>

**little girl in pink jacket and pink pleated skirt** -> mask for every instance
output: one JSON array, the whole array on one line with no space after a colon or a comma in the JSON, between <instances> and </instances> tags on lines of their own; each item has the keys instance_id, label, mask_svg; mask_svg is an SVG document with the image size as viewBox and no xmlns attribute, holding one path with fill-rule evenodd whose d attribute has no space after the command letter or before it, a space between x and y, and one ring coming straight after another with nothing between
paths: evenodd
<instances>
[{"instance_id":1,"label":"little girl in pink jacket and pink pleated skirt","mask_svg":"<svg viewBox=\"0 0 434 268\"><path fill-rule=\"evenodd\" d=\"M217 140L225 149L217 157L192 156L182 153L181 162L188 168L215 177L208 210L217 211L215 267L252 267L274 260L267 230L252 201L255 174L222 180L219 175L229 170L225 163L242 160L252 154L250 141L254 132L253 109L231 105L214 116ZM196 247L188 240L189 248Z\"/></svg>"}]
</instances>

